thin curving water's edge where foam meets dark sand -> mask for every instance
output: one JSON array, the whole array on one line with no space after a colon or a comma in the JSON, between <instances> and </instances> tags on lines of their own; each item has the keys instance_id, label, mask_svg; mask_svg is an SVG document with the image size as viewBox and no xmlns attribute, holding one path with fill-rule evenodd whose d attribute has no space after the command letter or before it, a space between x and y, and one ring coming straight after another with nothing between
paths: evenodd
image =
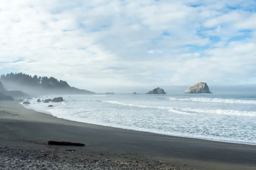
<instances>
[{"instance_id":1,"label":"thin curving water's edge where foam meets dark sand","mask_svg":"<svg viewBox=\"0 0 256 170\"><path fill-rule=\"evenodd\" d=\"M26 108L26 105L23 105L21 103L19 103L20 105L22 105L24 108ZM48 114L51 116L52 113L46 113L46 111L37 111L35 109L31 109L31 108L26 108L26 109L30 109L39 113L44 113L44 114ZM64 119L64 118L60 118L57 116L54 116L58 119ZM165 135L165 136L174 136L174 137L181 137L181 138L188 138L188 139L200 139L200 140L206 140L206 141L214 141L214 142L224 142L224 143L233 143L233 144L247 144L247 145L254 145L256 146L256 143L251 143L251 142L239 142L239 141L228 141L228 140L221 140L221 139L209 139L209 138L197 138L197 137L191 137L191 136L178 136L178 135L170 135L170 134L165 134L165 133L155 133L155 132L150 132L150 131L143 131L143 130L134 130L134 129L128 129L128 128L122 128L122 127L114 127L114 126L108 126L108 125L99 125L99 124L93 124L93 123L88 123L88 122L80 122L80 121L75 121L75 120L70 120L70 119L64 119L67 121L72 121L72 122L79 122L79 123L86 123L86 124L90 124L90 125L98 125L98 126L104 126L104 127L113 127L113 128L118 128L118 129L123 129L123 130L133 130L133 131L138 131L138 132L145 132L145 133L153 133L153 134L158 134L158 135Z\"/></svg>"}]
</instances>

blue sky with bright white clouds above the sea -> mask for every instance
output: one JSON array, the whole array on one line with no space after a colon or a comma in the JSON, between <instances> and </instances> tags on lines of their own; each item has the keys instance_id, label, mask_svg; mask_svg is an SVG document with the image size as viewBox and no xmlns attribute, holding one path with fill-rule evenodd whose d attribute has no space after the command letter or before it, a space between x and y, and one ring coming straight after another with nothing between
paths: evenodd
<instances>
[{"instance_id":1,"label":"blue sky with bright white clouds above the sea","mask_svg":"<svg viewBox=\"0 0 256 170\"><path fill-rule=\"evenodd\" d=\"M0 73L91 91L256 84L255 0L1 0Z\"/></svg>"}]
</instances>

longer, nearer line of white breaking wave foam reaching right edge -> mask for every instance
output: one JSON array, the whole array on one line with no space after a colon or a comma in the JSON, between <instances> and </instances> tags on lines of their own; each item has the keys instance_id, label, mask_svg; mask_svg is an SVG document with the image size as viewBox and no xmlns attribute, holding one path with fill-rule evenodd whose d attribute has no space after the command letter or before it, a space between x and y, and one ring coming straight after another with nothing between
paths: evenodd
<instances>
[{"instance_id":1,"label":"longer, nearer line of white breaking wave foam reaching right edge","mask_svg":"<svg viewBox=\"0 0 256 170\"><path fill-rule=\"evenodd\" d=\"M170 112L178 113L178 114L197 115L198 113L211 113L211 114L225 114L225 115L233 115L233 116L256 116L256 111L236 111L236 110L228 110L228 109L173 108L173 107L163 107L163 106L134 105L134 104L122 103L122 102L113 101L113 100L102 101L102 102L131 106L131 107L139 107L139 108L169 109Z\"/></svg>"}]
</instances>

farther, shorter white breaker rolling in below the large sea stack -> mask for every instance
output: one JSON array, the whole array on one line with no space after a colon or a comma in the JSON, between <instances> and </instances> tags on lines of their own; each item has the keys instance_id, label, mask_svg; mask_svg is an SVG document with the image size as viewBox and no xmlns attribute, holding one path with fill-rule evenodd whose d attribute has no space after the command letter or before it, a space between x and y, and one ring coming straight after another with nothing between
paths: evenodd
<instances>
[{"instance_id":1,"label":"farther, shorter white breaker rolling in below the large sea stack","mask_svg":"<svg viewBox=\"0 0 256 170\"><path fill-rule=\"evenodd\" d=\"M255 100L220 99L220 98L208 98L208 97L190 97L190 98L170 97L168 99L169 100L179 100L179 101L192 101L192 102L256 104Z\"/></svg>"}]
</instances>

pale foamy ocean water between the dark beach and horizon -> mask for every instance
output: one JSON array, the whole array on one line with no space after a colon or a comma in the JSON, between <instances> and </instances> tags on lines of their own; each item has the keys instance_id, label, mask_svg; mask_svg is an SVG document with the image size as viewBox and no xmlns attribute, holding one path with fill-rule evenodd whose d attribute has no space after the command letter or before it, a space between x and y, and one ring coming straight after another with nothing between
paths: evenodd
<instances>
[{"instance_id":1,"label":"pale foamy ocean water between the dark beach and horizon","mask_svg":"<svg viewBox=\"0 0 256 170\"><path fill-rule=\"evenodd\" d=\"M49 99L57 96L41 96ZM256 144L256 93L62 96L26 108L58 118L129 130ZM49 108L48 105L53 105Z\"/></svg>"}]
</instances>

